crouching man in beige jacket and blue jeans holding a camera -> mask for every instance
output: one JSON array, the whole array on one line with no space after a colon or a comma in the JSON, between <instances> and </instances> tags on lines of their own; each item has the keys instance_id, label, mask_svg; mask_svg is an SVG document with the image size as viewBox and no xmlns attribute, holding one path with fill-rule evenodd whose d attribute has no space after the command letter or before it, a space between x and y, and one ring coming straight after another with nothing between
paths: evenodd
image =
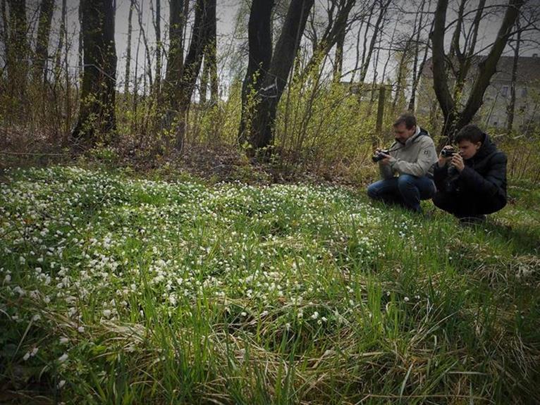
<instances>
[{"instance_id":1,"label":"crouching man in beige jacket and blue jeans holding a camera","mask_svg":"<svg viewBox=\"0 0 540 405\"><path fill-rule=\"evenodd\" d=\"M435 145L410 113L399 116L393 129L395 142L388 151L378 149L373 158L379 161L382 180L369 185L367 195L419 213L420 200L431 199L435 194L431 180L432 166L437 161Z\"/></svg>"}]
</instances>

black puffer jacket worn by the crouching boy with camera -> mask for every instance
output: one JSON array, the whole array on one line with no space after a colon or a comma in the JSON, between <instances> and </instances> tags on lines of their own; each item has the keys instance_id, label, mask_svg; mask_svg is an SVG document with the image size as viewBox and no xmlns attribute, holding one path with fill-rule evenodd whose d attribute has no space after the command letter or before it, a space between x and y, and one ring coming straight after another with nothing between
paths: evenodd
<instances>
[{"instance_id":1,"label":"black puffer jacket worn by the crouching boy with camera","mask_svg":"<svg viewBox=\"0 0 540 405\"><path fill-rule=\"evenodd\" d=\"M481 194L486 198L506 200L506 155L484 134L482 146L465 161L461 173L453 166L439 168L435 163L434 181L442 192Z\"/></svg>"}]
</instances>

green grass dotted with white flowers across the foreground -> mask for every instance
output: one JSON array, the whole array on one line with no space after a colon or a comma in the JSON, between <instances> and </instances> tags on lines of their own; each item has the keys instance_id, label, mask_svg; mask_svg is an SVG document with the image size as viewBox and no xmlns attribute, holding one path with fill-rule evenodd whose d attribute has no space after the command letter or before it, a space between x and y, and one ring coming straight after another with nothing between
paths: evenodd
<instances>
[{"instance_id":1,"label":"green grass dotted with white flowers across the foreground","mask_svg":"<svg viewBox=\"0 0 540 405\"><path fill-rule=\"evenodd\" d=\"M537 403L530 187L463 228L363 190L13 170L0 402Z\"/></svg>"}]
</instances>

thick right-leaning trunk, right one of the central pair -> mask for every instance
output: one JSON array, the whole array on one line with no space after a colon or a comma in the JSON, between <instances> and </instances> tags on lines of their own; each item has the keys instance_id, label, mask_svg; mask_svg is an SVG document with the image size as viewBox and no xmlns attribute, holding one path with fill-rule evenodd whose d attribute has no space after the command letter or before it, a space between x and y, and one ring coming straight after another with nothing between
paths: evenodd
<instances>
[{"instance_id":1,"label":"thick right-leaning trunk, right one of the central pair","mask_svg":"<svg viewBox=\"0 0 540 405\"><path fill-rule=\"evenodd\" d=\"M254 112L250 133L250 144L254 151L269 147L273 141L272 130L278 102L286 87L313 3L314 0L290 2L276 51L271 59L269 71L264 75L262 91L257 97L259 103Z\"/></svg>"}]
</instances>

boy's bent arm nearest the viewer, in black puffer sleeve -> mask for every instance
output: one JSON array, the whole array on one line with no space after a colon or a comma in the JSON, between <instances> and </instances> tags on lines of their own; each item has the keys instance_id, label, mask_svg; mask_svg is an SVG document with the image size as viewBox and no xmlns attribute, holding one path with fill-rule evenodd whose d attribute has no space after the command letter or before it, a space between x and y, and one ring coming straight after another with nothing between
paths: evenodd
<instances>
[{"instance_id":1,"label":"boy's bent arm nearest the viewer, in black puffer sleeve","mask_svg":"<svg viewBox=\"0 0 540 405\"><path fill-rule=\"evenodd\" d=\"M474 189L481 194L494 196L506 182L506 156L496 154L491 158L488 173L480 175L476 170L465 166L461 171L460 178L468 188Z\"/></svg>"}]
</instances>

